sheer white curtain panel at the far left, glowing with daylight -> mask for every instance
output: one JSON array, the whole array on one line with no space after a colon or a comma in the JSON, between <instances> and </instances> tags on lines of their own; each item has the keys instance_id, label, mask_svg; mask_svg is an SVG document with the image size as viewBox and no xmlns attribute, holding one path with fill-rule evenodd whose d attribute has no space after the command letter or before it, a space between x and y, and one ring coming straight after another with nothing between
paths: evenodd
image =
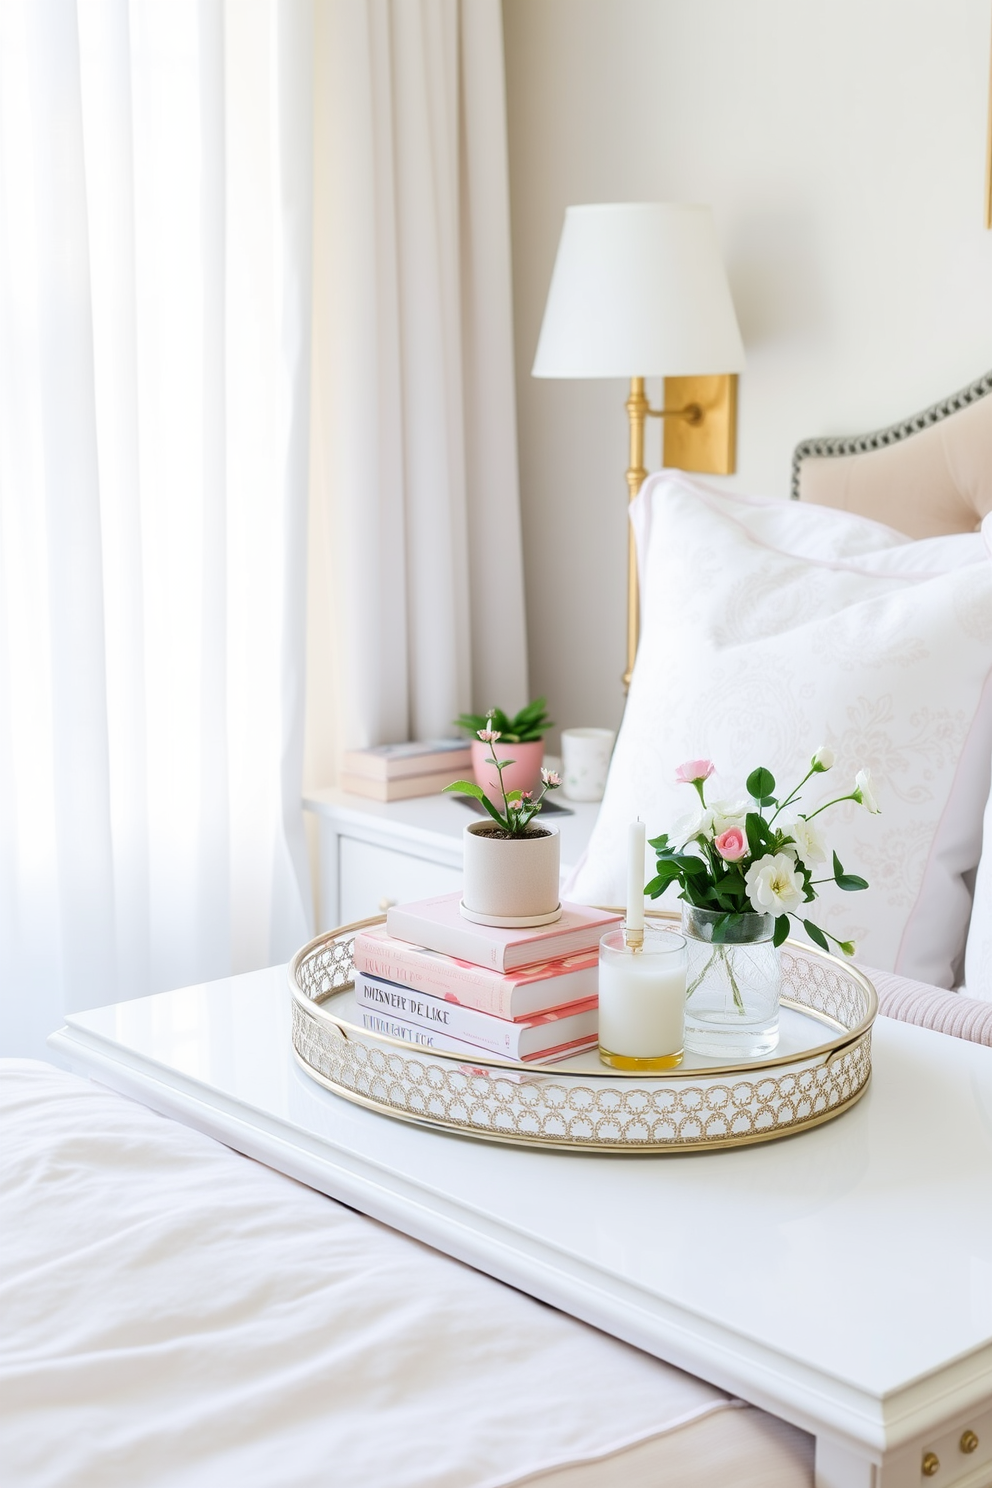
<instances>
[{"instance_id":1,"label":"sheer white curtain panel at the far left, glowing with daylight","mask_svg":"<svg viewBox=\"0 0 992 1488\"><path fill-rule=\"evenodd\" d=\"M286 958L312 12L0 0L0 1040Z\"/></svg>"}]
</instances>

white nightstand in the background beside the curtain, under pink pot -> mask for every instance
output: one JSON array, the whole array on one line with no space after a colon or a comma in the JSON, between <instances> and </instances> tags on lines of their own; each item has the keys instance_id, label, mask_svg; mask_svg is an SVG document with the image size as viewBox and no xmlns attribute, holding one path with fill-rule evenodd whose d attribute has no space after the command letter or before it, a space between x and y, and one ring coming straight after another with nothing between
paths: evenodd
<instances>
[{"instance_id":1,"label":"white nightstand in the background beside the curtain, under pink pot","mask_svg":"<svg viewBox=\"0 0 992 1488\"><path fill-rule=\"evenodd\" d=\"M586 848L599 802L562 801L574 815L549 817L561 832L562 873ZM454 796L416 796L388 805L345 790L314 790L303 808L317 817L320 887L317 930L382 914L408 899L461 887L461 835L477 817Z\"/></svg>"}]
</instances>

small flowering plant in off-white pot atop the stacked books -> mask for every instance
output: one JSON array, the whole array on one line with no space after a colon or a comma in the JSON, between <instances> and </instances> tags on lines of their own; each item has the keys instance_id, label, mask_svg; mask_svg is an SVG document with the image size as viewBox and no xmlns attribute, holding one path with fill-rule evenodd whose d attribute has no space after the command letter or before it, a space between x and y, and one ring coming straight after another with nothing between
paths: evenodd
<instances>
[{"instance_id":1,"label":"small flowering plant in off-white pot atop the stacked books","mask_svg":"<svg viewBox=\"0 0 992 1488\"><path fill-rule=\"evenodd\" d=\"M506 781L516 763L497 759L500 729L479 729L479 743L488 748L488 766L500 786L500 805L494 805L482 786L455 780L445 790L474 796L489 814L488 821L471 821L464 830L464 887L461 912L483 926L541 926L561 917L558 879L561 845L558 827L534 818L549 790L558 790L561 777L540 769L540 790L521 790ZM500 806L503 809L500 809Z\"/></svg>"}]
</instances>

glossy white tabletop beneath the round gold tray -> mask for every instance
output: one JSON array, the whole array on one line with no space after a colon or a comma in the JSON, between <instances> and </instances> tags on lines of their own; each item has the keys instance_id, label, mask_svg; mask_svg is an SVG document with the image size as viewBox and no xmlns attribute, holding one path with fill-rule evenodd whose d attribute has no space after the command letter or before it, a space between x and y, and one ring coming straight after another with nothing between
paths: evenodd
<instances>
[{"instance_id":1,"label":"glossy white tabletop beneath the round gold tray","mask_svg":"<svg viewBox=\"0 0 992 1488\"><path fill-rule=\"evenodd\" d=\"M321 1089L292 1055L283 969L77 1013L55 1043L800 1423L883 1448L952 1396L992 1399L992 1049L880 1018L869 1092L825 1126L733 1152L599 1156L425 1131ZM290 1149L299 1162L281 1161Z\"/></svg>"}]
</instances>

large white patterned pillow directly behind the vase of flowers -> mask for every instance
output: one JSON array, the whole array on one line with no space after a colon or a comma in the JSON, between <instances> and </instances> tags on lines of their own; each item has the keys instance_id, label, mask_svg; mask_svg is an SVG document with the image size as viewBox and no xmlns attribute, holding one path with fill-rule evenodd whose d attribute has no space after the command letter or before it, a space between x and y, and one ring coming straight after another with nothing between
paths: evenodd
<instances>
[{"instance_id":1,"label":"large white patterned pillow directly behind the vase of flowers","mask_svg":"<svg viewBox=\"0 0 992 1488\"><path fill-rule=\"evenodd\" d=\"M843 868L872 887L828 885L809 918L873 966L952 987L989 793L992 519L982 534L912 542L848 512L662 472L632 521L641 646L568 897L622 903L628 823L642 817L650 838L693 809L674 780L683 760L712 759L709 798L739 798L756 765L791 787L825 744L837 763L809 781L806 809L867 766L882 815L824 814Z\"/></svg>"}]
</instances>

